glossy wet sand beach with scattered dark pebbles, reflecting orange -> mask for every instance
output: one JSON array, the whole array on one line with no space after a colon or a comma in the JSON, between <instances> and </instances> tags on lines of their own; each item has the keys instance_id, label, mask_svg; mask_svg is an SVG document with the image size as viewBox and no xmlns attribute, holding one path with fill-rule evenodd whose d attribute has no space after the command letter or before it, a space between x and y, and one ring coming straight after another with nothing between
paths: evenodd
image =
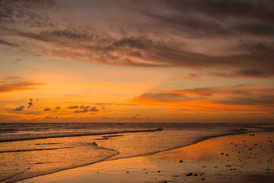
<instances>
[{"instance_id":1,"label":"glossy wet sand beach with scattered dark pebbles, reflecting orange","mask_svg":"<svg viewBox=\"0 0 274 183\"><path fill-rule=\"evenodd\" d=\"M273 182L274 132L220 136L20 182Z\"/></svg>"}]
</instances>

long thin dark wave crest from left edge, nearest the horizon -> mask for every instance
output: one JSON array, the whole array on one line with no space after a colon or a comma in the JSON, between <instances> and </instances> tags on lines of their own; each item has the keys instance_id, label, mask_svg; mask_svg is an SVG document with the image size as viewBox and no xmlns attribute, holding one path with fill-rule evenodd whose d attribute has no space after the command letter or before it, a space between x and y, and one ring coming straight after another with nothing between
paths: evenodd
<instances>
[{"instance_id":1,"label":"long thin dark wave crest from left edge, nearest the horizon","mask_svg":"<svg viewBox=\"0 0 274 183\"><path fill-rule=\"evenodd\" d=\"M156 132L162 131L162 127L158 127L156 129L150 130L124 130L124 131L117 131L117 132L92 132L92 133L84 133L84 134L62 134L62 135L52 135L52 136L36 136L36 137L29 137L29 138L12 138L12 139L3 139L0 140L0 143L4 142L13 142L13 141L29 141L29 140L36 140L36 139L45 139L45 138L61 138L61 137L71 137L71 136L95 136L95 135L105 135L105 134L125 134L125 133L138 133L138 132Z\"/></svg>"}]
</instances>

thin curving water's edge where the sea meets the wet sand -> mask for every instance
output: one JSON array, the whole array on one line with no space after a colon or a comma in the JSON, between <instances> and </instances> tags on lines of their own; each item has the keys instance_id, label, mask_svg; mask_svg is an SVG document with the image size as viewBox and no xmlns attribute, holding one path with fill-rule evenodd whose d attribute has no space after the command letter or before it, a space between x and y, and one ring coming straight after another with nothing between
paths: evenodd
<instances>
[{"instance_id":1,"label":"thin curving water's edge where the sea meets the wet sand","mask_svg":"<svg viewBox=\"0 0 274 183\"><path fill-rule=\"evenodd\" d=\"M211 141L212 139L214 140L214 138L222 138L222 137L229 137L229 136L238 136L238 135L247 135L249 133L267 133L267 132L273 132L273 130L264 130L264 131L261 131L261 130L256 130L256 131L251 131L251 132L237 132L237 133L234 133L234 134L222 134L220 136L211 136L209 138L204 138L203 140L201 141L198 141L196 143L193 143L191 145L186 145L186 146L183 146L183 147L176 147L174 149L167 149L167 150L164 150L164 151L159 151L159 152L155 152L155 153L152 153L152 154L145 154L145 155L142 155L142 156L154 156L155 154L162 154L162 153L169 153L169 151L176 151L176 149L182 149L182 148L186 148L186 147L191 147L193 145L197 145L199 143L203 143L204 141ZM84 166L81 166L81 167L75 167L73 169L66 169L66 170L62 170L62 171L57 171L55 173L48 173L48 174L45 174L45 175L38 175L34 178L42 178L44 176L48 176L48 175L53 175L53 174L56 174L56 173L63 173L64 171L73 171L75 169L86 169L86 167L90 167L90 166L96 166L96 164L99 164L99 163L103 163L103 162L112 162L112 161L123 161L123 160L126 160L126 159L131 159L131 158L140 158L142 156L133 156L133 157L128 157L128 158L119 158L119 159L114 159L114 160L108 160L109 158L106 158L105 160L103 161L99 161L99 162L94 162L92 164L86 164ZM29 182L29 180L32 180L34 178L28 178L28 179L25 179L25 180L21 180L21 181L18 181L18 182Z\"/></svg>"}]
</instances>

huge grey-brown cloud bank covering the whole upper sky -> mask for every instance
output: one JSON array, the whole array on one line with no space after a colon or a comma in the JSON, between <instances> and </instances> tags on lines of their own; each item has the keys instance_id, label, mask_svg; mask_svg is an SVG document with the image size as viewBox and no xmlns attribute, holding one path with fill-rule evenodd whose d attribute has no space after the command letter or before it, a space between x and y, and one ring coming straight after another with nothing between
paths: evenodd
<instances>
[{"instance_id":1,"label":"huge grey-brown cloud bank covering the whole upper sky","mask_svg":"<svg viewBox=\"0 0 274 183\"><path fill-rule=\"evenodd\" d=\"M273 7L270 0L5 1L0 35L9 41L0 43L86 64L267 78L274 76Z\"/></svg>"}]
</instances>

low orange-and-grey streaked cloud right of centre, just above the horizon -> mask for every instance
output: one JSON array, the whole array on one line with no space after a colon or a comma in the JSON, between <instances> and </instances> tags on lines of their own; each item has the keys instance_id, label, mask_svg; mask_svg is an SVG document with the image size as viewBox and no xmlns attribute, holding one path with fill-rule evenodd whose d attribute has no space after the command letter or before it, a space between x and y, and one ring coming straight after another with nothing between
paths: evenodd
<instances>
[{"instance_id":1,"label":"low orange-and-grey streaked cloud right of centre, just above the horizon","mask_svg":"<svg viewBox=\"0 0 274 183\"><path fill-rule=\"evenodd\" d=\"M274 110L274 88L239 85L226 88L190 88L144 93L132 102L166 106L169 112L252 112Z\"/></svg>"}]
</instances>

